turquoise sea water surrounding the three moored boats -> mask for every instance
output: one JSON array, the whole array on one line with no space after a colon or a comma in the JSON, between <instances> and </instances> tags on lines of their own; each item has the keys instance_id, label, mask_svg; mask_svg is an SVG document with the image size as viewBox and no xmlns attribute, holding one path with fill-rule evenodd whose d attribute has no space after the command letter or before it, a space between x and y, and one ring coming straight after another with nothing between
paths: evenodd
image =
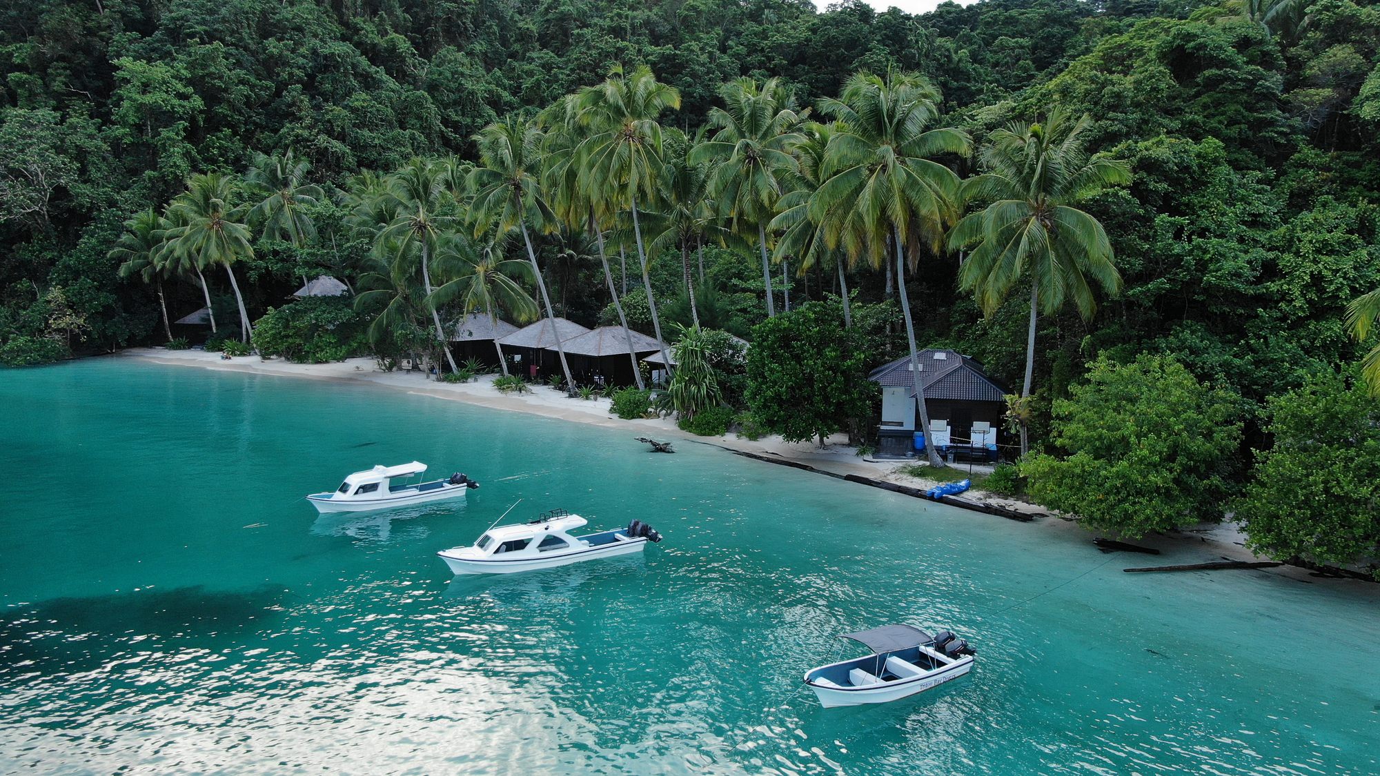
<instances>
[{"instance_id":1,"label":"turquoise sea water surrounding the three moored boats","mask_svg":"<svg viewBox=\"0 0 1380 776\"><path fill-rule=\"evenodd\" d=\"M1361 583L1125 574L1039 525L360 385L105 359L0 371L0 772L1380 770ZM413 458L483 487L299 500ZM435 552L518 498L665 541L453 580ZM818 707L800 674L891 621L974 672Z\"/></svg>"}]
</instances>

